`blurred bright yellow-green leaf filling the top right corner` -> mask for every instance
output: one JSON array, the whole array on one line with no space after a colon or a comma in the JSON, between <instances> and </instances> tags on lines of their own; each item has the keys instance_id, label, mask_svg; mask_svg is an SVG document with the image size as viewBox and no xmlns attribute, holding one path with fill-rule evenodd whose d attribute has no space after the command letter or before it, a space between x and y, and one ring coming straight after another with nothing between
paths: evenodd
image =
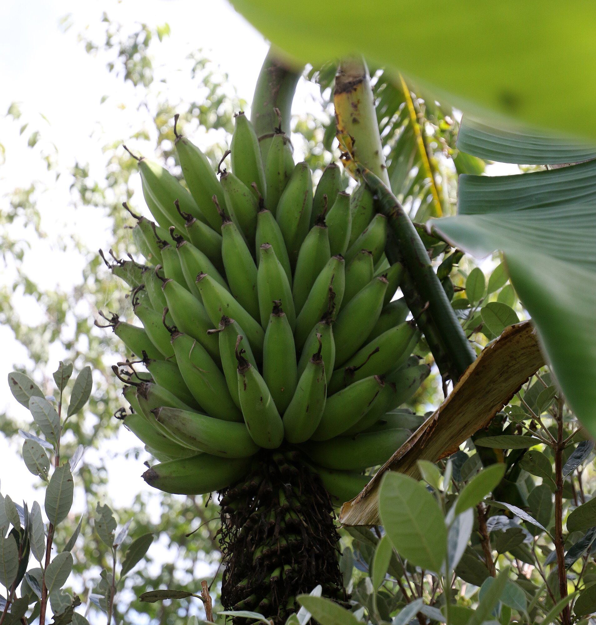
<instances>
[{"instance_id":1,"label":"blurred bright yellow-green leaf filling the top right corner","mask_svg":"<svg viewBox=\"0 0 596 625\"><path fill-rule=\"evenodd\" d=\"M596 138L596 3L589 0L231 0L301 61L362 53L526 123ZM448 98L447 98L448 99Z\"/></svg>"}]
</instances>

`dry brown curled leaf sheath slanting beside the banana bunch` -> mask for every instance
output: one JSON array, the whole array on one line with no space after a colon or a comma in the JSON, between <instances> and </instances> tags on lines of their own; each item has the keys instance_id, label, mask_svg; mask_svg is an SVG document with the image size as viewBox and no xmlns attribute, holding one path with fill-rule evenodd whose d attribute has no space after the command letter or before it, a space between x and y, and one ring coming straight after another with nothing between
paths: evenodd
<instances>
[{"instance_id":1,"label":"dry brown curled leaf sheath slanting beside the banana bunch","mask_svg":"<svg viewBox=\"0 0 596 625\"><path fill-rule=\"evenodd\" d=\"M419 478L419 460L435 462L457 451L474 432L487 426L524 382L544 365L532 324L509 326L460 377L449 397L410 436L367 484L342 506L344 525L379 523L379 487L386 471Z\"/></svg>"}]
</instances>

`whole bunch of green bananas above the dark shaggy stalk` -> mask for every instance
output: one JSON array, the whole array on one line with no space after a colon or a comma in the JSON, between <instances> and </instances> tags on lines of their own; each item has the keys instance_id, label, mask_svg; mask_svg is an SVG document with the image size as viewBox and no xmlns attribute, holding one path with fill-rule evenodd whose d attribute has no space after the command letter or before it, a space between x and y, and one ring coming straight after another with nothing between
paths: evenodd
<instances>
[{"instance_id":1,"label":"whole bunch of green bananas above the dark shaggy stalk","mask_svg":"<svg viewBox=\"0 0 596 625\"><path fill-rule=\"evenodd\" d=\"M285 135L264 162L243 113L224 155L231 171L177 121L186 186L134 156L155 221L125 203L135 259L104 257L140 321L102 314L140 358L116 371L141 380L126 391L135 416L124 421L160 461L145 477L209 492L245 475L259 449L296 446L331 494L358 492L359 473L414 428L400 406L430 371L410 358L420 334L392 301L403 271L384 254L387 220L365 186L345 192L335 163L313 192Z\"/></svg>"}]
</instances>

